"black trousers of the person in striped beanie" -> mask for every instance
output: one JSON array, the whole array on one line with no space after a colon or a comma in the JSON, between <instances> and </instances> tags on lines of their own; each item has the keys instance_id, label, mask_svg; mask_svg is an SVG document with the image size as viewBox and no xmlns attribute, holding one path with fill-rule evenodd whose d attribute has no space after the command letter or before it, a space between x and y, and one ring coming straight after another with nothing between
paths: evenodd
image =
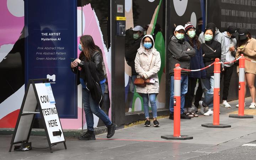
<instances>
[{"instance_id":1,"label":"black trousers of the person in striped beanie","mask_svg":"<svg viewBox=\"0 0 256 160\"><path fill-rule=\"evenodd\" d=\"M188 78L188 91L185 95L185 105L184 108L191 108L192 101L194 98L194 90L196 87L197 78Z\"/></svg>"}]
</instances>

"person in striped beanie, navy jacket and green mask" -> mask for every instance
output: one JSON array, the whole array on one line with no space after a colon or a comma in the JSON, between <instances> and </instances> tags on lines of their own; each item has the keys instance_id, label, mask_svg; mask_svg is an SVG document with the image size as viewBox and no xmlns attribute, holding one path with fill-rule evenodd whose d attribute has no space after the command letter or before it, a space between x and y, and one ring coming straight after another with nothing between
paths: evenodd
<instances>
[{"instance_id":1,"label":"person in striped beanie, navy jacket and green mask","mask_svg":"<svg viewBox=\"0 0 256 160\"><path fill-rule=\"evenodd\" d=\"M198 41L198 36L196 35L196 28L191 24L191 22L187 22L185 24L186 36L185 41L187 41L191 47L196 50L196 55L190 58L190 69L200 69L204 68L203 63L203 54L201 49L201 44ZM188 75L188 90L185 95L185 114L189 117L198 117L197 108L193 106L195 109L192 111L192 101L194 98L194 91L197 84L197 80L201 78L206 78L206 71L194 71L190 72Z\"/></svg>"}]
</instances>

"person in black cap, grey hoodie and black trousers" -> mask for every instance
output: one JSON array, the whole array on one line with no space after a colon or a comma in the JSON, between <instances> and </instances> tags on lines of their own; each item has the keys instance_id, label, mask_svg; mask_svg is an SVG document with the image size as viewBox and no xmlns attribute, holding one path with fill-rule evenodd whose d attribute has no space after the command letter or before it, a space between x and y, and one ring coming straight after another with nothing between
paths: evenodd
<instances>
[{"instance_id":1,"label":"person in black cap, grey hoodie and black trousers","mask_svg":"<svg viewBox=\"0 0 256 160\"><path fill-rule=\"evenodd\" d=\"M222 33L225 39L225 47L226 47L226 62L231 62L235 60L236 54L236 39L238 36L237 28L235 26L229 26L228 29ZM223 96L222 96L222 107L230 108L231 106L227 102L228 100L228 92L230 80L233 73L234 63L224 64L224 68L222 69L222 73L220 74L220 81L222 77L224 77L223 81Z\"/></svg>"}]
</instances>

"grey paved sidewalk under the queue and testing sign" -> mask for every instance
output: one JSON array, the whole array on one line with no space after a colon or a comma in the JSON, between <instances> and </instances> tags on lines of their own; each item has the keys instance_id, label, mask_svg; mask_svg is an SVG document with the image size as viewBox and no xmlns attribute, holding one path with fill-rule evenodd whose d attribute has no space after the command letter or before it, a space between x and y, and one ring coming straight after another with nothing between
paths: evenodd
<instances>
[{"instance_id":1,"label":"grey paved sidewalk under the queue and testing sign","mask_svg":"<svg viewBox=\"0 0 256 160\"><path fill-rule=\"evenodd\" d=\"M246 110L255 113L256 109L249 109L251 98L246 98ZM181 134L193 136L191 140L166 140L161 135L173 134L173 121L169 118L159 119L160 127L144 127L139 124L134 127L119 129L111 139L106 133L96 136L96 140L80 141L66 139L68 149L63 144L49 149L32 149L31 151L12 151L9 153L10 135L0 136L0 159L15 160L100 160L100 159L214 159L210 156L224 150L241 146L256 140L255 118L239 119L229 118L230 112L237 111L235 105L238 101L230 102L232 108L220 107L220 123L230 124L231 128L205 128L201 124L212 123L213 116L202 116L190 120L181 120ZM152 123L152 121L151 121ZM32 146L36 148L47 147L46 137L31 136ZM212 158L211 158L212 157ZM219 159L219 158L218 158ZM221 159L221 158L220 158ZM231 157L223 157L231 159Z\"/></svg>"}]
</instances>

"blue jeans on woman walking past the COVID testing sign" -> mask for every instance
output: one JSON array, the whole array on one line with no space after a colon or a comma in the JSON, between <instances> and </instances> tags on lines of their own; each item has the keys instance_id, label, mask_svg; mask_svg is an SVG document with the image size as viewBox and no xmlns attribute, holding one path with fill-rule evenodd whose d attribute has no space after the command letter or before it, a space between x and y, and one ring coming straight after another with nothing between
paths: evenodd
<instances>
[{"instance_id":1,"label":"blue jeans on woman walking past the COVID testing sign","mask_svg":"<svg viewBox=\"0 0 256 160\"><path fill-rule=\"evenodd\" d=\"M105 91L105 83L101 84L102 93ZM109 126L112 122L108 118L107 114L101 110L97 102L92 99L90 91L86 88L82 88L82 102L85 111L85 119L87 124L87 130L94 131L94 118L93 114L99 117L106 126ZM93 113L93 114L92 114Z\"/></svg>"}]
</instances>

